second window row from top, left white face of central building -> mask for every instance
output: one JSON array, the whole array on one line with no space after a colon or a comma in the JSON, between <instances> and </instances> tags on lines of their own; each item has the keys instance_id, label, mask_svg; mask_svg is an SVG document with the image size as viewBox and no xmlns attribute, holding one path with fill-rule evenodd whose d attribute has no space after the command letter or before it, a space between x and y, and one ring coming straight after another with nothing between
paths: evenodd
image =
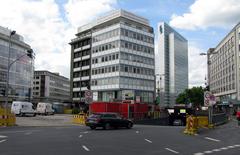
<instances>
[{"instance_id":1,"label":"second window row from top, left white face of central building","mask_svg":"<svg viewBox=\"0 0 240 155\"><path fill-rule=\"evenodd\" d=\"M96 47L92 48L92 53L98 53L101 51L106 51L106 50L110 50L110 49L114 49L114 48L118 48L119 47L119 43L120 41L113 41L113 42L109 42L106 44L102 44Z\"/></svg>"}]
</instances>

